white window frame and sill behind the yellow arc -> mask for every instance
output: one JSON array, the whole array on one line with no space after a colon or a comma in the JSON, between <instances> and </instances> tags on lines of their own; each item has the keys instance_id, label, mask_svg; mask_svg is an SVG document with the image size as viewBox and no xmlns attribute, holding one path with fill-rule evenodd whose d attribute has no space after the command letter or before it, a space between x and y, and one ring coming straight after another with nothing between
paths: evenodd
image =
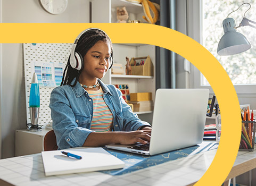
<instances>
[{"instance_id":1,"label":"white window frame and sill behind the yellow arc","mask_svg":"<svg viewBox=\"0 0 256 186\"><path fill-rule=\"evenodd\" d=\"M201 45L203 44L203 0L192 0L187 1L188 3L188 31L190 31L192 34L188 35L191 38L194 38L197 40ZM192 10L191 10L192 9ZM190 19L189 19L190 18ZM195 24L189 24L189 22L196 23ZM194 88L207 88L210 90L210 94L214 94L211 86L202 85L202 73L196 69L195 66L193 66L193 71L190 75L190 78L192 79L192 86ZM234 88L236 90L237 94L256 94L256 84L235 84Z\"/></svg>"}]
</instances>

